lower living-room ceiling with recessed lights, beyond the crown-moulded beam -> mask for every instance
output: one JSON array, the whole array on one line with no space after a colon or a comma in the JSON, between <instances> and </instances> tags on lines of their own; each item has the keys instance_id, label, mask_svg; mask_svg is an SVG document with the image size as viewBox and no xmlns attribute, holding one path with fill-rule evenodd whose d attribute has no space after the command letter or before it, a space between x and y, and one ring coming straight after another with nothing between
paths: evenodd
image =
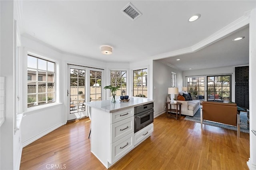
<instances>
[{"instance_id":1,"label":"lower living-room ceiling with recessed lights, beyond the crown-moulded beam","mask_svg":"<svg viewBox=\"0 0 256 170\"><path fill-rule=\"evenodd\" d=\"M244 37L244 39L233 41L238 37ZM249 26L194 53L168 57L159 61L183 71L249 64Z\"/></svg>"}]
</instances>

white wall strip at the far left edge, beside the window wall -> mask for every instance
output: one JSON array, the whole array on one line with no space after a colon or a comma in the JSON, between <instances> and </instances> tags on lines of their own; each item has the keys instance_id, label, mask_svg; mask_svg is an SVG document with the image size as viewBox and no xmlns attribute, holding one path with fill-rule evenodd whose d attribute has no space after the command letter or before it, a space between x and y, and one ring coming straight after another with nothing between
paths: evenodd
<instances>
[{"instance_id":1,"label":"white wall strip at the far left edge, beside the window wall","mask_svg":"<svg viewBox=\"0 0 256 170\"><path fill-rule=\"evenodd\" d=\"M5 121L0 128L0 169L14 169L14 5L0 1L0 76L6 77Z\"/></svg>"}]
</instances>

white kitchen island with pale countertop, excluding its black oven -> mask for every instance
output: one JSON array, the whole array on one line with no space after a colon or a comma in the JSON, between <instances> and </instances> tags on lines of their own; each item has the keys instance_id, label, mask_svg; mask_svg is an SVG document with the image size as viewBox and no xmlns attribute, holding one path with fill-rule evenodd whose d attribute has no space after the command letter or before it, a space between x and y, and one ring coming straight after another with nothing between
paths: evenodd
<instances>
[{"instance_id":1,"label":"white kitchen island with pale countertop, excluding its black oven","mask_svg":"<svg viewBox=\"0 0 256 170\"><path fill-rule=\"evenodd\" d=\"M154 100L131 97L128 102L110 100L84 103L91 115L91 152L109 168L153 132L153 123L134 133L134 107ZM153 105L153 104L152 104Z\"/></svg>"}]
</instances>

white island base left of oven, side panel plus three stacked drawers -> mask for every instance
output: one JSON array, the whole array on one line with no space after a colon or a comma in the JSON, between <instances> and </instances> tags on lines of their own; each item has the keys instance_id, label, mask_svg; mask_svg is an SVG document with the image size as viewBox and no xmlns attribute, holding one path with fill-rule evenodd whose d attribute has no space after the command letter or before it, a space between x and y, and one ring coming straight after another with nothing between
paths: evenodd
<instances>
[{"instance_id":1,"label":"white island base left of oven, side panel plus three stacked drawers","mask_svg":"<svg viewBox=\"0 0 256 170\"><path fill-rule=\"evenodd\" d=\"M134 148L134 107L107 113L92 108L92 153L109 168Z\"/></svg>"}]
</instances>

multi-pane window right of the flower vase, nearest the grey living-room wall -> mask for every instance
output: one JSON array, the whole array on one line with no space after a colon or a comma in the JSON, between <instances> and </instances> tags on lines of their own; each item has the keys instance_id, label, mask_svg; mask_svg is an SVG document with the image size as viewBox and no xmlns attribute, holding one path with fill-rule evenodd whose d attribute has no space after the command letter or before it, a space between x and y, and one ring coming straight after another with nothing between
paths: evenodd
<instances>
[{"instance_id":1,"label":"multi-pane window right of the flower vase, nearest the grey living-room wall","mask_svg":"<svg viewBox=\"0 0 256 170\"><path fill-rule=\"evenodd\" d=\"M148 69L133 71L133 96L148 97Z\"/></svg>"}]
</instances>

